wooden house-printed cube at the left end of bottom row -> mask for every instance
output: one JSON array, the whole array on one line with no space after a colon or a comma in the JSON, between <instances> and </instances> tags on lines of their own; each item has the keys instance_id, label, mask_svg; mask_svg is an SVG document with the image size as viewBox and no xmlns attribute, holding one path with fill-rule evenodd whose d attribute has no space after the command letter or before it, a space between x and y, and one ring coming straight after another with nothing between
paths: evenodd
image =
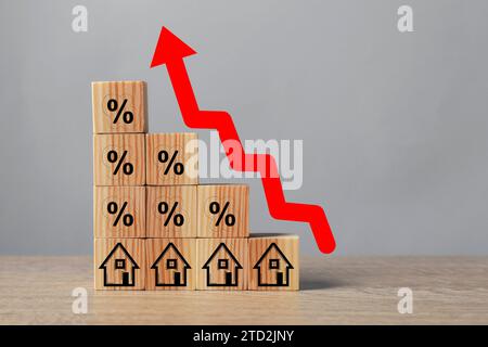
<instances>
[{"instance_id":1,"label":"wooden house-printed cube at the left end of bottom row","mask_svg":"<svg viewBox=\"0 0 488 347\"><path fill-rule=\"evenodd\" d=\"M143 290L145 244L143 239L95 239L95 290Z\"/></svg>"}]
</instances>

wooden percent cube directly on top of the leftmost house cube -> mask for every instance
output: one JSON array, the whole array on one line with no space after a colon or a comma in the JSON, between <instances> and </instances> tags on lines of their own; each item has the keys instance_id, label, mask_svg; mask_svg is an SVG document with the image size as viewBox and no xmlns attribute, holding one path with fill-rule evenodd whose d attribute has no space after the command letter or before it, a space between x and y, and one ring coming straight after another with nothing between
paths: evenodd
<instances>
[{"instance_id":1,"label":"wooden percent cube directly on top of the leftmost house cube","mask_svg":"<svg viewBox=\"0 0 488 347\"><path fill-rule=\"evenodd\" d=\"M145 237L145 187L94 187L95 237Z\"/></svg>"}]
</instances>

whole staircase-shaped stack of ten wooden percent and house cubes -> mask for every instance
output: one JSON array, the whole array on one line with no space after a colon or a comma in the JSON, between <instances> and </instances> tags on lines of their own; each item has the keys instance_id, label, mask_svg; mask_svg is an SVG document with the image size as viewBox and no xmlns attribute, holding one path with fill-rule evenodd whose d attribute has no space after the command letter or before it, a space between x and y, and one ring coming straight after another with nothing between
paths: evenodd
<instances>
[{"instance_id":1,"label":"whole staircase-shaped stack of ten wooden percent and house cubes","mask_svg":"<svg viewBox=\"0 0 488 347\"><path fill-rule=\"evenodd\" d=\"M144 81L92 83L97 290L298 290L298 236L249 234L249 189L198 184L195 133L147 133Z\"/></svg>"}]
</instances>

